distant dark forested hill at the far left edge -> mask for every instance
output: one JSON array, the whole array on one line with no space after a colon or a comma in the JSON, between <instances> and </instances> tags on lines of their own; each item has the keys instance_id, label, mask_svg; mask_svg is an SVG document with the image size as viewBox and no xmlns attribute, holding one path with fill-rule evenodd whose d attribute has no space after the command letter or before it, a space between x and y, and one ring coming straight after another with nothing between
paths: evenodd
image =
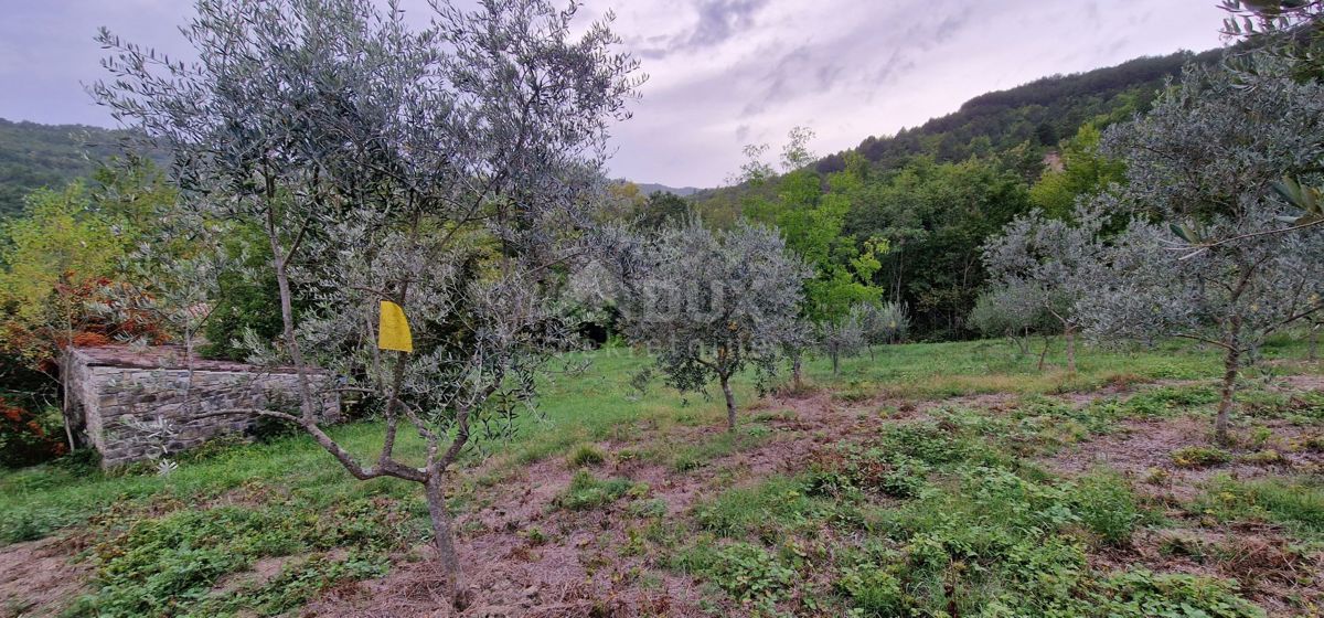
<instances>
[{"instance_id":1,"label":"distant dark forested hill at the far left edge","mask_svg":"<svg viewBox=\"0 0 1324 618\"><path fill-rule=\"evenodd\" d=\"M23 209L23 196L87 176L119 152L119 131L86 124L38 124L0 118L0 220Z\"/></svg>"}]
</instances>

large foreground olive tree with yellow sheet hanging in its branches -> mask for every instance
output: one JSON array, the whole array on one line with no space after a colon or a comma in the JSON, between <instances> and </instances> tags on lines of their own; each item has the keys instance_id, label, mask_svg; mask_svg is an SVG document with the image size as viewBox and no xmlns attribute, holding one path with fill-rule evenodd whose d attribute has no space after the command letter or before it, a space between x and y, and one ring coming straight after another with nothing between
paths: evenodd
<instances>
[{"instance_id":1,"label":"large foreground olive tree with yellow sheet hanging in its branches","mask_svg":"<svg viewBox=\"0 0 1324 618\"><path fill-rule=\"evenodd\" d=\"M286 421L357 479L422 486L458 603L448 474L477 438L508 435L576 340L559 298L602 246L589 196L639 79L573 5L430 7L414 28L395 3L199 0L181 29L196 62L102 30L113 77L91 91L172 155L177 208L266 237L282 333L250 341L252 360L293 367L299 406L209 414ZM379 349L383 300L410 319L412 353ZM320 426L328 373L380 404L375 457ZM402 427L422 461L397 455Z\"/></svg>"}]
</instances>

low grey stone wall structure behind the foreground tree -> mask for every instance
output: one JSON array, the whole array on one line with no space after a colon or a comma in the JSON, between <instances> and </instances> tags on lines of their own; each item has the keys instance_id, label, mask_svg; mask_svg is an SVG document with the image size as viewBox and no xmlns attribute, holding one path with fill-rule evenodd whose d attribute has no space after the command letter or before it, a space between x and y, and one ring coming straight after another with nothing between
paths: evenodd
<instances>
[{"instance_id":1,"label":"low grey stone wall structure behind the foreground tree","mask_svg":"<svg viewBox=\"0 0 1324 618\"><path fill-rule=\"evenodd\" d=\"M238 363L195 360L171 347L74 349L65 368L69 416L102 466L177 453L252 426L253 416L208 413L240 408L298 413L298 376L289 369L261 369ZM312 377L322 393L322 419L340 416L339 397L324 375Z\"/></svg>"}]
</instances>

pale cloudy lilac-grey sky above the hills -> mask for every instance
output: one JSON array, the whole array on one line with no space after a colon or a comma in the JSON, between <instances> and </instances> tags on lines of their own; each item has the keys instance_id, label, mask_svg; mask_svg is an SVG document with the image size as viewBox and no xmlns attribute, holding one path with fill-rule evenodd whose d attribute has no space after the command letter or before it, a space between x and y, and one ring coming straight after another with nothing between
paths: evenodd
<instances>
[{"instance_id":1,"label":"pale cloudy lilac-grey sky above the hills","mask_svg":"<svg viewBox=\"0 0 1324 618\"><path fill-rule=\"evenodd\" d=\"M103 75L98 26L188 57L185 0L3 4L0 118L114 127L82 86ZM794 126L826 155L990 90L1223 44L1217 0L584 0L580 19L609 11L647 74L610 173L671 187L716 187Z\"/></svg>"}]
</instances>

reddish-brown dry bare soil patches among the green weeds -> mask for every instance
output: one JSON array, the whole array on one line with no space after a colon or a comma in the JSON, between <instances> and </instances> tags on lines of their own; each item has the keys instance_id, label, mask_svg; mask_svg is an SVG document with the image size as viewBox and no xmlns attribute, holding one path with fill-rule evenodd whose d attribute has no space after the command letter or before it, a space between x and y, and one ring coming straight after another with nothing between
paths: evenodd
<instances>
[{"instance_id":1,"label":"reddish-brown dry bare soil patches among the green weeds","mask_svg":"<svg viewBox=\"0 0 1324 618\"><path fill-rule=\"evenodd\" d=\"M1313 382L1311 382L1313 380ZM1309 382L1309 384L1307 384ZM1319 388L1319 377L1292 384ZM1063 401L1086 405L1090 400L1129 392L1131 386L1108 388L1088 396L1067 394ZM1000 413L1016 402L1016 396L986 394L943 401L874 400L834 401L828 393L798 398L772 398L759 410L776 412L769 421L773 433L764 442L731 455L719 457L703 467L677 472L666 463L621 458L618 453L638 449L661 435L643 430L630 442L597 445L610 453L597 474L647 483L650 496L666 503L667 516L679 519L703 498L727 488L755 483L782 471L796 471L816 450L841 441L865 437L882 423L911 422L940 405L959 405ZM888 414L879 414L880 409ZM1287 422L1267 423L1272 445L1284 446L1301 430ZM665 437L670 443L696 443L720 433L722 427L681 427ZM1271 466L1229 463L1207 470L1184 470L1172 464L1169 454L1182 446L1207 445L1207 427L1178 417L1170 419L1125 421L1108 435L1094 437L1068 447L1041 463L1071 476L1099 466L1136 479L1135 486L1160 503L1177 504L1198 495L1200 484L1213 474L1238 478L1284 474L1292 468L1324 466L1324 457L1290 453ZM1153 470L1166 472L1162 483L1145 482ZM462 613L454 613L444 598L442 578L430 560L430 548L396 560L388 576L352 582L324 593L303 610L318 617L710 617L700 606L703 594L694 578L650 566L641 556L620 556L638 519L620 506L592 511L565 511L552 507L569 484L573 470L563 458L551 458L520 468L493 487L481 488L479 504L489 504L458 517L458 549L465 569L465 588L474 599ZM538 529L547 540L535 543L528 531ZM1174 549L1176 548L1176 549ZM1182 549L1186 548L1186 549ZM1233 560L1206 561L1202 552L1218 549ZM0 602L8 614L50 615L46 605L78 594L87 568L73 564L71 552L57 540L11 545L0 549ZM1301 556L1272 527L1238 531L1225 536L1178 525L1174 529L1144 531L1128 548L1091 556L1100 568L1144 564L1155 570L1233 577L1247 586L1253 598L1271 611L1288 596L1319 598L1324 589L1320 573L1324 561L1316 553ZM271 565L258 565L262 570ZM733 609L733 607L728 607Z\"/></svg>"}]
</instances>

